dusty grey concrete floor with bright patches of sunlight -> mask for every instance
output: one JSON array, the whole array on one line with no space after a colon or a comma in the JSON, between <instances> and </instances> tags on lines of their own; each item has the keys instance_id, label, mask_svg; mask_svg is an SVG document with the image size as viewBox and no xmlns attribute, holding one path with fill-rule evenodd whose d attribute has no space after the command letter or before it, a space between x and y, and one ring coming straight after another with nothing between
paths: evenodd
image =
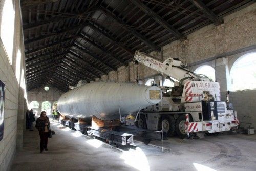
<instances>
[{"instance_id":1,"label":"dusty grey concrete floor with bright patches of sunlight","mask_svg":"<svg viewBox=\"0 0 256 171\"><path fill-rule=\"evenodd\" d=\"M206 136L203 139L168 138L116 149L57 122L49 151L39 153L39 135L26 131L11 170L256 170L256 135Z\"/></svg>"}]
</instances>

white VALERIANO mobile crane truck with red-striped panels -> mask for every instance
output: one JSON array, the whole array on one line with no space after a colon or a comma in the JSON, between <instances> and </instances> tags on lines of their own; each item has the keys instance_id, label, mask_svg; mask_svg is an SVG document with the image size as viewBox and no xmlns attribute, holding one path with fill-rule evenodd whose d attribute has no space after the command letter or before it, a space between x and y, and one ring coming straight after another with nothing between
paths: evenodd
<instances>
[{"instance_id":1,"label":"white VALERIANO mobile crane truck with red-striped panels","mask_svg":"<svg viewBox=\"0 0 256 171\"><path fill-rule=\"evenodd\" d=\"M227 100L221 101L220 84L189 71L185 68L187 62L171 57L161 62L139 51L135 52L133 62L142 63L174 82L174 87L160 87L161 102L140 111L137 127L163 130L167 136L177 134L185 138L191 133L217 135L239 125L228 94Z\"/></svg>"}]
</instances>

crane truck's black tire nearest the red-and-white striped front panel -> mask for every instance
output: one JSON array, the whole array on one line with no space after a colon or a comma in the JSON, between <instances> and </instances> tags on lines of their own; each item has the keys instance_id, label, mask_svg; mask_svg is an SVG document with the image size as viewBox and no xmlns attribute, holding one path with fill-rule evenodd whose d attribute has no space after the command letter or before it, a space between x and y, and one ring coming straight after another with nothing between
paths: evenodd
<instances>
[{"instance_id":1,"label":"crane truck's black tire nearest the red-and-white striped front panel","mask_svg":"<svg viewBox=\"0 0 256 171\"><path fill-rule=\"evenodd\" d=\"M186 122L186 117L185 115L180 115L178 119L176 120L176 127L175 131L176 134L181 138L187 138L187 133L185 132L185 122ZM193 119L189 115L189 122L193 122Z\"/></svg>"}]
</instances>

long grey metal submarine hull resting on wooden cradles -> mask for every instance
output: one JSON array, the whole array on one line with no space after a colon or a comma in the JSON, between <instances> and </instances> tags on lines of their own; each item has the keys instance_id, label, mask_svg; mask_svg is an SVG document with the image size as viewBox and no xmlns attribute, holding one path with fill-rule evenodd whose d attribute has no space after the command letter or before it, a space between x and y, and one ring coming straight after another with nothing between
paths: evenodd
<instances>
[{"instance_id":1,"label":"long grey metal submarine hull resting on wooden cradles","mask_svg":"<svg viewBox=\"0 0 256 171\"><path fill-rule=\"evenodd\" d=\"M60 114L68 118L115 120L162 99L156 86L144 86L127 82L92 82L63 94L57 103ZM120 109L120 113L119 113Z\"/></svg>"}]
</instances>

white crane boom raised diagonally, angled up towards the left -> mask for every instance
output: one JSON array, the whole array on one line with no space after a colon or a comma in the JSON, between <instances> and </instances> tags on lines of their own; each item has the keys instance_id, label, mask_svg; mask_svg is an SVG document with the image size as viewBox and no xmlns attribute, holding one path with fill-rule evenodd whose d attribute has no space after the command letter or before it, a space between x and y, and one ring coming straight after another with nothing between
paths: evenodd
<instances>
[{"instance_id":1,"label":"white crane boom raised diagonally, angled up towards the left","mask_svg":"<svg viewBox=\"0 0 256 171\"><path fill-rule=\"evenodd\" d=\"M211 81L205 75L196 74L185 69L187 62L179 59L174 59L169 57L163 62L161 62L158 59L155 59L150 54L136 51L133 62L136 63L136 61L160 72L162 75L165 74L178 81L181 81L184 79L189 79L194 81Z\"/></svg>"}]
</instances>

